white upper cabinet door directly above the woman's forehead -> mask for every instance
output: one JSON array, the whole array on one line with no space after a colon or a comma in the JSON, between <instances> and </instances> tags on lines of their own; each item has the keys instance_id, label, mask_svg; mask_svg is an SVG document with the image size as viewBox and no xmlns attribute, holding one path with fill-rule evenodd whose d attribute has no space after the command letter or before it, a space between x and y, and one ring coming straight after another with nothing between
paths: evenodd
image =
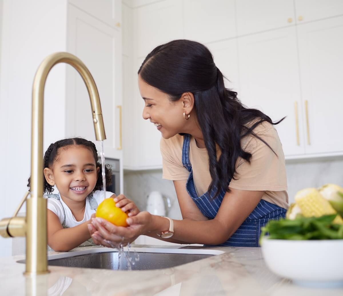
<instances>
[{"instance_id":1,"label":"white upper cabinet door directly above the woman's forehead","mask_svg":"<svg viewBox=\"0 0 343 296\"><path fill-rule=\"evenodd\" d=\"M137 58L145 58L156 46L184 36L180 0L139 7L133 12L133 21L133 48Z\"/></svg>"}]
</instances>

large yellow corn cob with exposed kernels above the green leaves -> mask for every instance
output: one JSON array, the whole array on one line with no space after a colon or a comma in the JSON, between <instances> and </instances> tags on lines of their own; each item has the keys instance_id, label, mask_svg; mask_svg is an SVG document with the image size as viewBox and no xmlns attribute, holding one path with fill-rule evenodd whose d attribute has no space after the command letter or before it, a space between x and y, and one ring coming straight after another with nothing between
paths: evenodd
<instances>
[{"instance_id":1,"label":"large yellow corn cob with exposed kernels above the green leaves","mask_svg":"<svg viewBox=\"0 0 343 296\"><path fill-rule=\"evenodd\" d=\"M320 217L337 213L316 188L300 190L295 196L295 202L304 217ZM337 215L333 223L343 224L342 217Z\"/></svg>"}]
</instances>

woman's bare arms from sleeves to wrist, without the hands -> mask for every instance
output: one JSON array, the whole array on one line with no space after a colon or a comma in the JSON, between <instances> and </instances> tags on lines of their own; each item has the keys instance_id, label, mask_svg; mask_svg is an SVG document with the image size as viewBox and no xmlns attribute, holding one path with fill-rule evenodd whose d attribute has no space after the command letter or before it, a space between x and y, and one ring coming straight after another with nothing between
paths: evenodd
<instances>
[{"instance_id":1,"label":"woman's bare arms from sleeves to wrist, without the hands","mask_svg":"<svg viewBox=\"0 0 343 296\"><path fill-rule=\"evenodd\" d=\"M216 217L207 220L186 190L186 181L174 181L183 220L174 220L173 239L187 243L218 245L226 242L248 215L255 209L264 191L248 191L230 188L226 193ZM167 230L165 218L152 216L150 228L161 233Z\"/></svg>"}]
</instances>

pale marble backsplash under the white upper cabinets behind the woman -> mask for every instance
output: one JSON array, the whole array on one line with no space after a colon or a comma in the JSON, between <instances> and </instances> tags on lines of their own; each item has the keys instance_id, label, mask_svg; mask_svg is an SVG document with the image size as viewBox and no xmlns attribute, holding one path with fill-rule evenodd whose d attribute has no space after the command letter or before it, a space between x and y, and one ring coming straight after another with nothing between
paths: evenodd
<instances>
[{"instance_id":1,"label":"pale marble backsplash under the white upper cabinets behind the woman","mask_svg":"<svg viewBox=\"0 0 343 296\"><path fill-rule=\"evenodd\" d=\"M298 190L319 187L326 183L343 186L343 157L323 160L297 160L286 162L289 203ZM171 200L168 216L181 219L181 212L173 181L162 179L162 170L125 171L124 193L136 202L139 209L146 209L147 196L159 191Z\"/></svg>"}]
</instances>

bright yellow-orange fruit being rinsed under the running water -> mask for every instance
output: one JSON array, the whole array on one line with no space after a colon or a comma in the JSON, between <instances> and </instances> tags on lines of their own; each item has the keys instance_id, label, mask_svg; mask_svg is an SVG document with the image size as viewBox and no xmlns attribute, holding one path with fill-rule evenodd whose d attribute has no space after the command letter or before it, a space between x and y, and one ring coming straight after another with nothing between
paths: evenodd
<instances>
[{"instance_id":1,"label":"bright yellow-orange fruit being rinsed under the running water","mask_svg":"<svg viewBox=\"0 0 343 296\"><path fill-rule=\"evenodd\" d=\"M111 197L105 198L100 203L96 209L95 216L103 218L117 226L128 226L126 223L126 219L128 218L127 213L123 212L120 208L117 208L116 202Z\"/></svg>"}]
</instances>

